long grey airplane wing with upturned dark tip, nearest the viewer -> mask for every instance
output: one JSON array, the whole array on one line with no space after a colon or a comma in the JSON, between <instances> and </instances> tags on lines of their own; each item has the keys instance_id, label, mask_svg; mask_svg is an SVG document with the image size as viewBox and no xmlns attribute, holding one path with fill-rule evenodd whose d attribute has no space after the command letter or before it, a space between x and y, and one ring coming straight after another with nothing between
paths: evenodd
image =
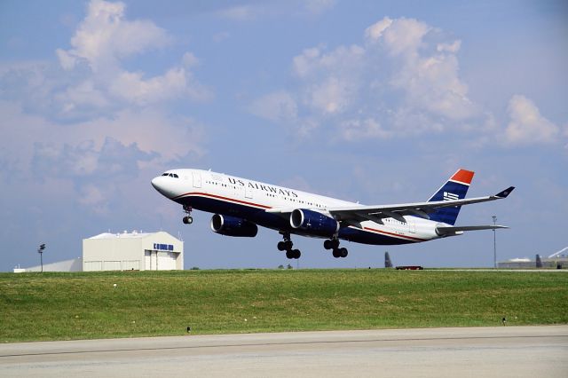
<instances>
[{"instance_id":1,"label":"long grey airplane wing with upturned dark tip, nearest the viewer","mask_svg":"<svg viewBox=\"0 0 568 378\"><path fill-rule=\"evenodd\" d=\"M429 219L429 214L436 211L436 209L469 205L471 203L501 200L503 198L507 198L507 196L509 196L509 193L511 193L513 189L515 189L515 187L510 186L509 188L494 195L463 200L415 202L395 205L358 206L349 208L329 208L326 210L331 216L335 217L336 220L343 221L351 225L358 225L359 222L366 220L383 224L383 218L394 218L400 222L406 223L406 220L403 216L414 216Z\"/></svg>"}]
</instances>

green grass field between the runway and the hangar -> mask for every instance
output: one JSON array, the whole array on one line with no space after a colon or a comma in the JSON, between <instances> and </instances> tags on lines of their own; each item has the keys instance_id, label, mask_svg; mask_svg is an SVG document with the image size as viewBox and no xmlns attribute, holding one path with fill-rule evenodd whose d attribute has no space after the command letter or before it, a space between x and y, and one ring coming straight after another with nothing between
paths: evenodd
<instances>
[{"instance_id":1,"label":"green grass field between the runway and the hangar","mask_svg":"<svg viewBox=\"0 0 568 378\"><path fill-rule=\"evenodd\" d=\"M114 287L116 284L116 287ZM0 343L568 323L568 274L392 270L0 273Z\"/></svg>"}]
</instances>

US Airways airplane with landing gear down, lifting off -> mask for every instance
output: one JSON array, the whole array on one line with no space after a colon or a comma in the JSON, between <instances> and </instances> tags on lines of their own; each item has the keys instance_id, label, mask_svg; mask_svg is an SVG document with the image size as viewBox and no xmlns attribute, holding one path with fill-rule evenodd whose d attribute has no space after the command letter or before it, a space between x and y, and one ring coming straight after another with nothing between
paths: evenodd
<instances>
[{"instance_id":1,"label":"US Airways airplane with landing gear down, lifting off","mask_svg":"<svg viewBox=\"0 0 568 378\"><path fill-rule=\"evenodd\" d=\"M152 179L163 196L182 205L184 224L193 209L213 213L213 232L255 237L258 225L280 232L277 248L288 259L301 256L291 236L325 239L335 258L348 255L340 240L395 245L436 240L466 231L509 228L503 225L456 226L461 206L501 200L514 186L485 197L465 199L474 172L458 169L428 201L365 206L278 185L202 169L170 169Z\"/></svg>"}]
</instances>

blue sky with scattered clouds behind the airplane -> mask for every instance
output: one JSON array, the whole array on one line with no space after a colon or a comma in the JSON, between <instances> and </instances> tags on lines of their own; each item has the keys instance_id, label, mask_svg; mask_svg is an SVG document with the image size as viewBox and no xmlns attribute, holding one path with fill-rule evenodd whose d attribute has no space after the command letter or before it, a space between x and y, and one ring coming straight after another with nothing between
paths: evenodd
<instances>
[{"instance_id":1,"label":"blue sky with scattered clouds behind the airplane","mask_svg":"<svg viewBox=\"0 0 568 378\"><path fill-rule=\"evenodd\" d=\"M568 246L568 4L515 1L0 3L0 272L163 230L185 268L493 266L493 232L404 246L217 235L154 191L212 169L367 205L426 201L459 168L456 224L510 226L498 260Z\"/></svg>"}]
</instances>

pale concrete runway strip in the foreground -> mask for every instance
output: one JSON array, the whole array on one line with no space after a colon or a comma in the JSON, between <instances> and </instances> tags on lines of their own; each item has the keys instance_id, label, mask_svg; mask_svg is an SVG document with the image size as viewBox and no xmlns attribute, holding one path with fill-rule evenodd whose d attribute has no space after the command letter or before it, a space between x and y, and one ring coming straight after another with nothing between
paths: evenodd
<instances>
[{"instance_id":1,"label":"pale concrete runway strip in the foreground","mask_svg":"<svg viewBox=\"0 0 568 378\"><path fill-rule=\"evenodd\" d=\"M568 326L0 344L0 377L566 377Z\"/></svg>"}]
</instances>

